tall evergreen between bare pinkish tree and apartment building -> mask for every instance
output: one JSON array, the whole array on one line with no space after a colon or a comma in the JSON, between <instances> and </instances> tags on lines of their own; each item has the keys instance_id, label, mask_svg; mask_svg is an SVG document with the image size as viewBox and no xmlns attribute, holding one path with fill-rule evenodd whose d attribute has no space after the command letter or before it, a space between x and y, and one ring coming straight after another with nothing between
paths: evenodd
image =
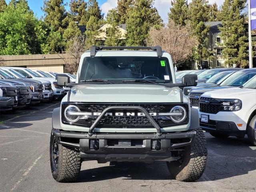
<instances>
[{"instance_id":1,"label":"tall evergreen between bare pinkish tree and apartment building","mask_svg":"<svg viewBox=\"0 0 256 192\"><path fill-rule=\"evenodd\" d=\"M207 0L192 0L188 5L188 20L191 23L194 35L198 38L198 47L194 51L194 60L199 60L200 56L207 59L210 56L207 33L209 26L205 22L209 20L209 4Z\"/></svg>"}]
</instances>

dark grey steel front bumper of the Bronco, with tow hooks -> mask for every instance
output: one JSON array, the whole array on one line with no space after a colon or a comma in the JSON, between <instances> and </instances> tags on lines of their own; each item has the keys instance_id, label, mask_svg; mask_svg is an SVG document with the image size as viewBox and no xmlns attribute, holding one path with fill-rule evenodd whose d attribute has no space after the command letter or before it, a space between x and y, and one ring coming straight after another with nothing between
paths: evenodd
<instances>
[{"instance_id":1,"label":"dark grey steel front bumper of the Bronco, with tow hooks","mask_svg":"<svg viewBox=\"0 0 256 192\"><path fill-rule=\"evenodd\" d=\"M54 130L59 144L77 148L83 160L153 162L173 161L177 148L194 143L196 132L107 134ZM94 146L92 146L94 145ZM95 148L96 146L96 148Z\"/></svg>"}]
</instances>

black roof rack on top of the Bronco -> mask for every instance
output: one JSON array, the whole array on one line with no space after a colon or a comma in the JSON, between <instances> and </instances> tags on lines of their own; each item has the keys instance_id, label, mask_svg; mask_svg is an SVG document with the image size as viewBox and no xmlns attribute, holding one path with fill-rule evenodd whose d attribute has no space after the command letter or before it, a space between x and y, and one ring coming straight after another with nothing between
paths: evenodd
<instances>
[{"instance_id":1,"label":"black roof rack on top of the Bronco","mask_svg":"<svg viewBox=\"0 0 256 192\"><path fill-rule=\"evenodd\" d=\"M152 51L156 51L157 56L160 58L162 57L162 48L160 46L154 46L154 47L140 47L140 46L91 46L90 48L90 56L94 57L96 54L96 51L104 50L104 49L148 49Z\"/></svg>"}]
</instances>

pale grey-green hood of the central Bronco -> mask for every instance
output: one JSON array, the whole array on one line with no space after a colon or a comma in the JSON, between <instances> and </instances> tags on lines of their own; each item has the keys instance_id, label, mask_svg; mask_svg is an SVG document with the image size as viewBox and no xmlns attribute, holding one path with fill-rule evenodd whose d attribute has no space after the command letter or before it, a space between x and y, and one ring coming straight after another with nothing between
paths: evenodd
<instances>
[{"instance_id":1,"label":"pale grey-green hood of the central Bronco","mask_svg":"<svg viewBox=\"0 0 256 192\"><path fill-rule=\"evenodd\" d=\"M180 88L147 84L84 84L72 88L70 102L181 102Z\"/></svg>"}]
</instances>

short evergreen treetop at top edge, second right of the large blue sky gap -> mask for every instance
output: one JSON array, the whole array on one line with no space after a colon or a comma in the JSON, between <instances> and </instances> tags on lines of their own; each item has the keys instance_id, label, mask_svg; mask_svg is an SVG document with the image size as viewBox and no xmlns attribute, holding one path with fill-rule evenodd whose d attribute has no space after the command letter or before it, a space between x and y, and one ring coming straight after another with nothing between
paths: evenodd
<instances>
[{"instance_id":1,"label":"short evergreen treetop at top edge, second right of the large blue sky gap","mask_svg":"<svg viewBox=\"0 0 256 192\"><path fill-rule=\"evenodd\" d=\"M72 21L78 23L78 25L86 25L89 18L86 18L87 3L85 0L71 0L70 1L70 17Z\"/></svg>"}]
</instances>

